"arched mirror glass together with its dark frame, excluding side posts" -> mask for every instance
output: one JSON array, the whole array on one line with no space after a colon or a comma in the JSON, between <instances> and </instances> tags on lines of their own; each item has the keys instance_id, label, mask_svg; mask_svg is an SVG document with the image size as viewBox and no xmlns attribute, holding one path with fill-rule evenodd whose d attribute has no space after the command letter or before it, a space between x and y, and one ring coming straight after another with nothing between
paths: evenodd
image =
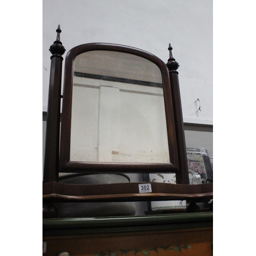
<instances>
[{"instance_id":1,"label":"arched mirror glass together with its dark frame, excluding side posts","mask_svg":"<svg viewBox=\"0 0 256 256\"><path fill-rule=\"evenodd\" d=\"M178 171L170 95L167 67L150 53L100 43L73 48L66 57L60 170Z\"/></svg>"}]
</instances>

